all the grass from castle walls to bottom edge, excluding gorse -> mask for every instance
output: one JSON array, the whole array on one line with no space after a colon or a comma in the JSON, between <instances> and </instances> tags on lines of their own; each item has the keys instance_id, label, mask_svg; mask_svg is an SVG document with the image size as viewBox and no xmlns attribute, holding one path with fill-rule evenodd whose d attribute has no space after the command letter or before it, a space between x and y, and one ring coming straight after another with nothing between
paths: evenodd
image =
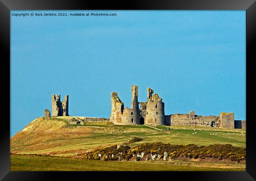
<instances>
[{"instance_id":1,"label":"all the grass from castle walls to bottom edge, excluding gorse","mask_svg":"<svg viewBox=\"0 0 256 181\"><path fill-rule=\"evenodd\" d=\"M52 117L45 120L39 117L28 124L22 131L11 138L11 152L17 154L50 154L56 156L82 156L87 150L102 146L124 143L132 137L144 140L128 144L134 146L147 142L163 142L170 144L198 144L214 143L232 144L245 147L246 137L239 132L245 130L208 128L197 126L171 126L170 131L158 131L144 125L113 125L111 122L87 122L85 125L70 125L67 119L71 117ZM157 126L167 129L169 126ZM198 131L198 129L202 131ZM197 134L194 133L197 129ZM217 135L210 135L217 133ZM227 135L227 133L230 133ZM233 135L235 133L235 135ZM11 155L11 170L243 170L245 164L198 163L181 162L183 165L173 165L165 161L97 161L81 160L61 157L41 157ZM189 162L189 163L188 163ZM176 163L176 161L175 161ZM178 163L180 164L180 163ZM190 166L184 166L190 165ZM198 167L198 166L202 167Z\"/></svg>"}]
</instances>

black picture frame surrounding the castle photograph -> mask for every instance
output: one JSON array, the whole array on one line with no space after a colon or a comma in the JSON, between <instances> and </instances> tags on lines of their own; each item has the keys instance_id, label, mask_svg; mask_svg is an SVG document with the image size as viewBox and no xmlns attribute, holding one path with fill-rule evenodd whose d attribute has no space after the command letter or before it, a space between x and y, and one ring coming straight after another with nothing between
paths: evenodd
<instances>
[{"instance_id":1,"label":"black picture frame surrounding the castle photograph","mask_svg":"<svg viewBox=\"0 0 256 181\"><path fill-rule=\"evenodd\" d=\"M139 176L150 179L178 180L256 180L256 141L254 135L254 88L255 44L256 44L256 2L255 0L137 0L119 2L97 2L79 0L1 0L0 2L0 44L2 53L2 128L0 131L0 179L7 180L56 180L66 179L121 179L131 180ZM246 172L10 172L10 11L11 10L246 10L246 119L247 119L247 160ZM234 37L236 38L236 37ZM9 66L9 69L8 69ZM9 70L9 71L8 71ZM9 74L8 74L9 73ZM7 79L6 77L8 77ZM5 80L5 81L3 81ZM9 95L9 97L7 96ZM9 107L8 107L9 105ZM9 114L10 115L10 114ZM5 119L6 118L6 119ZM175 178L176 177L176 178ZM93 179L93 178L91 178Z\"/></svg>"}]
</instances>

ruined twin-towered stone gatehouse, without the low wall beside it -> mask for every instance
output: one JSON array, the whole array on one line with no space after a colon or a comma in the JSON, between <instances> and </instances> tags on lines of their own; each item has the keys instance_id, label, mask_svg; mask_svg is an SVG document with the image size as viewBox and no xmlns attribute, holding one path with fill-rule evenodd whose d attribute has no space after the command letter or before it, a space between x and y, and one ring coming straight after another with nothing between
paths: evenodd
<instances>
[{"instance_id":1,"label":"ruined twin-towered stone gatehouse, without the low wall beside it","mask_svg":"<svg viewBox=\"0 0 256 181\"><path fill-rule=\"evenodd\" d=\"M138 86L132 85L131 108L123 108L124 104L117 96L117 92L112 92L109 120L115 124L164 125L164 103L158 94L152 95L153 92L154 90L148 88L148 101L138 102Z\"/></svg>"}]
</instances>

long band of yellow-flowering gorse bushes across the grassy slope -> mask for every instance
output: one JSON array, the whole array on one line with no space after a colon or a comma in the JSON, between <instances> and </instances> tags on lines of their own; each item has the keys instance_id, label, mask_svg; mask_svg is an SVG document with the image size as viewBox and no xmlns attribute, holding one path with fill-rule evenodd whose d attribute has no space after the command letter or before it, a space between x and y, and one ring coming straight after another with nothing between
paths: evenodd
<instances>
[{"instance_id":1,"label":"long band of yellow-flowering gorse bushes across the grassy slope","mask_svg":"<svg viewBox=\"0 0 256 181\"><path fill-rule=\"evenodd\" d=\"M103 160L129 160L134 155L144 153L144 155L160 155L163 158L164 152L168 153L168 158L174 159L178 157L187 158L217 158L230 159L231 161L246 160L246 148L234 147L231 144L212 144L209 146L197 146L196 144L168 144L168 143L145 143L134 148L129 146L117 145L95 150L92 153L85 154L85 159L103 159ZM102 157L99 157L101 154ZM113 157L112 157L113 154ZM103 158L104 155L104 158ZM108 159L106 159L106 156ZM134 157L137 161L141 158Z\"/></svg>"}]
</instances>

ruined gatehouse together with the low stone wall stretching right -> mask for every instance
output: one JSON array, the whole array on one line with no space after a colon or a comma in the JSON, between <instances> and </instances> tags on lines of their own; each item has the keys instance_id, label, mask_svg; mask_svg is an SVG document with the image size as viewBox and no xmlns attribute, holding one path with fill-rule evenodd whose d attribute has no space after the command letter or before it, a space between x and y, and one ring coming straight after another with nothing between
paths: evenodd
<instances>
[{"instance_id":1,"label":"ruined gatehouse together with the low stone wall stretching right","mask_svg":"<svg viewBox=\"0 0 256 181\"><path fill-rule=\"evenodd\" d=\"M132 85L131 108L124 108L124 103L118 97L117 92L112 92L109 121L114 124L149 124L152 126L184 125L242 129L246 127L246 121L234 120L234 113L220 113L219 116L201 116L191 111L188 114L165 115L162 98L157 93L153 93L154 90L148 88L147 102L138 102L138 86Z\"/></svg>"}]
</instances>

